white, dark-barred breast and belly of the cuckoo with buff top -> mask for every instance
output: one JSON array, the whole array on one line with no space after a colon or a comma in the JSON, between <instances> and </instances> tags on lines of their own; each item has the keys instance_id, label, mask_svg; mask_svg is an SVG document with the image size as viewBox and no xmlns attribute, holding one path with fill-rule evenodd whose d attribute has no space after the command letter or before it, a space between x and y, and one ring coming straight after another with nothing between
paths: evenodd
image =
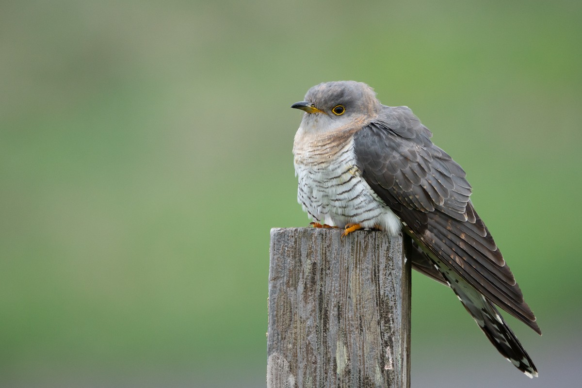
<instances>
[{"instance_id":1,"label":"white, dark-barred breast and belly of the cuckoo with buff top","mask_svg":"<svg viewBox=\"0 0 582 388\"><path fill-rule=\"evenodd\" d=\"M338 227L359 223L391 235L400 232L398 216L362 177L352 133L316 136L300 128L293 154L297 201L315 222Z\"/></svg>"}]
</instances>

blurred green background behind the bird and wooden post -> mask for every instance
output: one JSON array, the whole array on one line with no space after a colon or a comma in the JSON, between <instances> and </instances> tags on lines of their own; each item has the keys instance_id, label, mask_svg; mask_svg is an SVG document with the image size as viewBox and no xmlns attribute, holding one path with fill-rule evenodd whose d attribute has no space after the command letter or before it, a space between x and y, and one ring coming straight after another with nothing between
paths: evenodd
<instances>
[{"instance_id":1,"label":"blurred green background behind the bird and wooden post","mask_svg":"<svg viewBox=\"0 0 582 388\"><path fill-rule=\"evenodd\" d=\"M3 1L0 386L264 387L269 229L296 204L293 102L408 105L544 332L499 356L413 275L412 385L579 386L579 1Z\"/></svg>"}]
</instances>

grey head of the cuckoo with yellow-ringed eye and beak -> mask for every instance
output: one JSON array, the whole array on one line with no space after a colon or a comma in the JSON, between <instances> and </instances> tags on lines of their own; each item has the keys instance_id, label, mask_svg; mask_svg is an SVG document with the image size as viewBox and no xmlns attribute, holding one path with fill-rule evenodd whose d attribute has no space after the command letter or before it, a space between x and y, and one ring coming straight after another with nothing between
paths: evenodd
<instances>
[{"instance_id":1,"label":"grey head of the cuckoo with yellow-ringed eye and beak","mask_svg":"<svg viewBox=\"0 0 582 388\"><path fill-rule=\"evenodd\" d=\"M381 107L374 90L356 81L321 83L307 91L305 101L291 106L306 112L301 127L313 131L328 131L356 121L369 121L378 115Z\"/></svg>"}]
</instances>

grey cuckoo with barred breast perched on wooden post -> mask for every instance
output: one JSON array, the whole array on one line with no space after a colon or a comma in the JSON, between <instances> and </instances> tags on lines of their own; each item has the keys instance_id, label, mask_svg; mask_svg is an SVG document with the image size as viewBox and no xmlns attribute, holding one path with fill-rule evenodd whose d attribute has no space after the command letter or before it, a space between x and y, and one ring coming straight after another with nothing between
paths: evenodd
<instances>
[{"instance_id":1,"label":"grey cuckoo with barred breast perched on wooden post","mask_svg":"<svg viewBox=\"0 0 582 388\"><path fill-rule=\"evenodd\" d=\"M466 173L407 106L365 83L311 87L293 141L297 201L314 227L402 233L414 269L449 286L489 341L530 378L530 356L496 306L541 335L534 313L470 200Z\"/></svg>"}]
</instances>

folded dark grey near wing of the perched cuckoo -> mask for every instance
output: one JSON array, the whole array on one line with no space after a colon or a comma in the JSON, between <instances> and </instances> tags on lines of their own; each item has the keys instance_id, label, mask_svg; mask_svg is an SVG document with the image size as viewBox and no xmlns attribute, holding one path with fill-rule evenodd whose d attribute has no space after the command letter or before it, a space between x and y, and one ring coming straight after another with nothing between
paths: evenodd
<instances>
[{"instance_id":1,"label":"folded dark grey near wing of the perched cuckoo","mask_svg":"<svg viewBox=\"0 0 582 388\"><path fill-rule=\"evenodd\" d=\"M432 144L431 136L406 106L385 106L377 120L354 136L364 179L424 250L541 333L513 273L469 201L471 186L464 170Z\"/></svg>"}]
</instances>

